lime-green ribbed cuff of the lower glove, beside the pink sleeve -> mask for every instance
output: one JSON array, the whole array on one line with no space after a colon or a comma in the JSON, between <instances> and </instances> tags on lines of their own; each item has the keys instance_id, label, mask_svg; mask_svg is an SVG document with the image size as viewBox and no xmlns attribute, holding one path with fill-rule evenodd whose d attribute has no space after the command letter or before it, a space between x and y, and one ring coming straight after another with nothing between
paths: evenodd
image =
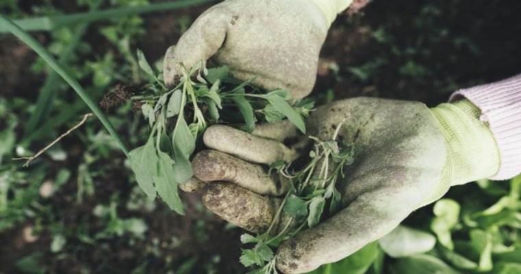
<instances>
[{"instance_id":1,"label":"lime-green ribbed cuff of the lower glove, beside the pink sleeve","mask_svg":"<svg viewBox=\"0 0 521 274\"><path fill-rule=\"evenodd\" d=\"M447 144L443 175L425 204L441 198L450 188L483 179L499 170L499 151L487 123L481 121L481 110L467 99L442 103L431 108Z\"/></svg>"}]
</instances>

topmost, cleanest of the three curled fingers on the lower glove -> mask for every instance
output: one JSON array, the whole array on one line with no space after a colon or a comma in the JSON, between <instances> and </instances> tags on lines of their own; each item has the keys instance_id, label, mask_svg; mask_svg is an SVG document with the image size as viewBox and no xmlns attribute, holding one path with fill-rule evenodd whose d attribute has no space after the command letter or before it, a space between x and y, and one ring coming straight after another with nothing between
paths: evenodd
<instances>
[{"instance_id":1,"label":"topmost, cleanest of the three curled fingers on the lower glove","mask_svg":"<svg viewBox=\"0 0 521 274\"><path fill-rule=\"evenodd\" d=\"M213 125L206 129L204 145L257 164L272 164L278 160L292 162L298 151L289 149L276 140L260 138L239 129L224 125Z\"/></svg>"}]
</instances>

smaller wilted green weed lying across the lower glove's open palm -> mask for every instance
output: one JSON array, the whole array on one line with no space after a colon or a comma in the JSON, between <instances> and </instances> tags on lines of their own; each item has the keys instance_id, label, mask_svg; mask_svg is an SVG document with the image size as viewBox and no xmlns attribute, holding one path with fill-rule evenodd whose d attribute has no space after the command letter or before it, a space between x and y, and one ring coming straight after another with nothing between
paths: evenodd
<instances>
[{"instance_id":1,"label":"smaller wilted green weed lying across the lower glove's open palm","mask_svg":"<svg viewBox=\"0 0 521 274\"><path fill-rule=\"evenodd\" d=\"M328 212L330 214L335 214L339 210L338 203L341 194L336 188L336 182L339 176L344 176L343 168L354 162L353 145L336 140L340 127L341 125L337 127L332 140L324 142L313 136L309 137L315 142L315 145L309 152L310 162L303 169L294 171L291 163L271 164L270 172L276 170L288 180L291 188L274 216L274 221L264 234L257 236L243 234L241 236L243 244L255 244L252 249L243 249L240 258L244 266L261 267L251 271L251 274L277 273L276 256L271 247L278 247L280 242L291 238L305 227L317 225L323 217L326 202L329 202ZM282 212L290 218L284 225L284 229L272 237L270 236L271 229Z\"/></svg>"}]
</instances>

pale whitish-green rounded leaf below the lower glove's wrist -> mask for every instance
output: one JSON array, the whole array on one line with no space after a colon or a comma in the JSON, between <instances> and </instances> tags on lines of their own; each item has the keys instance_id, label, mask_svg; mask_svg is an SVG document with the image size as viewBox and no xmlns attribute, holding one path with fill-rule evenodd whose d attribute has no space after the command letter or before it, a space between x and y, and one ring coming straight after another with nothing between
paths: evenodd
<instances>
[{"instance_id":1,"label":"pale whitish-green rounded leaf below the lower glove's wrist","mask_svg":"<svg viewBox=\"0 0 521 274\"><path fill-rule=\"evenodd\" d=\"M380 247L392 258L409 257L431 251L436 237L421 230L398 225L389 234L378 240Z\"/></svg>"}]
</instances>

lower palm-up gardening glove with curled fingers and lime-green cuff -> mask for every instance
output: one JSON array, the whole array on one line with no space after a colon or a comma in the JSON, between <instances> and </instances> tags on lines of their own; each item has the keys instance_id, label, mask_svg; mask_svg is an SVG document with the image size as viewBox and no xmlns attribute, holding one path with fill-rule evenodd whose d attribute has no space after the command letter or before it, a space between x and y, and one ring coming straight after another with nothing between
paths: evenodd
<instances>
[{"instance_id":1,"label":"lower palm-up gardening glove with curled fingers and lime-green cuff","mask_svg":"<svg viewBox=\"0 0 521 274\"><path fill-rule=\"evenodd\" d=\"M332 140L341 125L337 140L354 144L354 163L337 181L343 209L283 242L278 269L304 273L341 260L450 186L494 175L498 149L478 116L480 110L466 99L429 109L418 102L361 97L318 108L306 123L309 134ZM211 182L204 188L204 205L231 223L265 232L289 188L268 175L266 165L308 155L302 149L305 137L284 145L295 136L297 129L287 122L258 127L253 134L209 127L204 142L214 150L197 154L192 164L196 177ZM275 233L289 217L281 219Z\"/></svg>"}]
</instances>

